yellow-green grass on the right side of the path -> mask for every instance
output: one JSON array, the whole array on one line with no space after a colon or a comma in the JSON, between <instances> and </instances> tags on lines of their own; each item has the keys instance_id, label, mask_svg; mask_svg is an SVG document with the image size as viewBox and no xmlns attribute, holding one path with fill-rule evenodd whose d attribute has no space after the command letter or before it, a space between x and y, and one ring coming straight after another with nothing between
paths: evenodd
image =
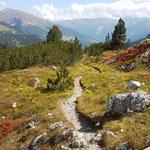
<instances>
[{"instance_id":1,"label":"yellow-green grass on the right side of the path","mask_svg":"<svg viewBox=\"0 0 150 150\"><path fill-rule=\"evenodd\" d=\"M82 76L84 87L83 96L78 100L78 110L93 121L99 121L107 110L109 98L118 93L133 92L126 86L130 80L138 80L142 85L141 90L150 94L150 72L139 66L137 69L125 73L116 69L115 66L106 65L101 61L90 63L89 59L82 60L73 68L73 75ZM94 68L99 68L101 72ZM96 115L92 115L96 112ZM104 145L106 149L115 147L124 141L129 141L133 149L142 149L150 145L150 110L142 113L125 115L120 120L105 122L103 131L113 131L117 137L106 136ZM125 132L121 133L121 129Z\"/></svg>"}]
</instances>

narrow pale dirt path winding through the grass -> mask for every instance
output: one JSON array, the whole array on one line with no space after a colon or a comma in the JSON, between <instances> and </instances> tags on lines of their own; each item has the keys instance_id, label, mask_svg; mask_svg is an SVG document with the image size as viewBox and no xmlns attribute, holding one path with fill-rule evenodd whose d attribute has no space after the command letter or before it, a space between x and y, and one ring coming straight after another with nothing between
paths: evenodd
<instances>
[{"instance_id":1,"label":"narrow pale dirt path winding through the grass","mask_svg":"<svg viewBox=\"0 0 150 150\"><path fill-rule=\"evenodd\" d=\"M93 130L94 125L90 120L79 114L76 109L77 99L82 95L83 91L80 85L80 80L80 77L75 78L74 95L62 103L62 110L67 120L73 124L75 130L82 135L82 138L86 141L88 145L87 149L100 150L101 148L97 143L91 143L91 140L96 135L96 131Z\"/></svg>"}]
</instances>

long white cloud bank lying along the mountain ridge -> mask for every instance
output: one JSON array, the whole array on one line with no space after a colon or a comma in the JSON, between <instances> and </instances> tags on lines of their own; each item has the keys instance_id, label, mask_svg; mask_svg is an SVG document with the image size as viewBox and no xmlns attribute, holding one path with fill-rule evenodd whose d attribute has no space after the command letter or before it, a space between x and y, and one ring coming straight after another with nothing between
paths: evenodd
<instances>
[{"instance_id":1,"label":"long white cloud bank lying along the mountain ridge","mask_svg":"<svg viewBox=\"0 0 150 150\"><path fill-rule=\"evenodd\" d=\"M34 5L36 14L48 20L78 18L150 17L150 0L117 0L112 3L73 3L68 8L53 4Z\"/></svg>"}]
</instances>

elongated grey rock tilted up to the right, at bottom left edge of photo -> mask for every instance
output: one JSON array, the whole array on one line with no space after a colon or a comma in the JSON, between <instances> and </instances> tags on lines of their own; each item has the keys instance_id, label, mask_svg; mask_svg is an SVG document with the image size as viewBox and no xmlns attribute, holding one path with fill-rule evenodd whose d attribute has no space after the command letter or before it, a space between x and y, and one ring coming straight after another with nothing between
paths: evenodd
<instances>
[{"instance_id":1,"label":"elongated grey rock tilted up to the right, at bottom left edge of photo","mask_svg":"<svg viewBox=\"0 0 150 150\"><path fill-rule=\"evenodd\" d=\"M33 139L33 141L30 144L29 149L36 150L36 147L43 143L44 136L46 136L46 135L47 135L47 133L44 132L44 133L40 134L39 136L37 136L35 139Z\"/></svg>"}]
</instances>

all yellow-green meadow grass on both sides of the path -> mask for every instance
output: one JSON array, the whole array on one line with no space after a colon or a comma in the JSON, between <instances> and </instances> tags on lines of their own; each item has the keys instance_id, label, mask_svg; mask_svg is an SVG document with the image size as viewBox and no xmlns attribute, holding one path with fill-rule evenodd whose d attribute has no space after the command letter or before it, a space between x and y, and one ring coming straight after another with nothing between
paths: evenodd
<instances>
[{"instance_id":1,"label":"all yellow-green meadow grass on both sides of the path","mask_svg":"<svg viewBox=\"0 0 150 150\"><path fill-rule=\"evenodd\" d=\"M82 77L84 91L83 96L78 99L77 108L79 112L95 122L105 114L110 96L132 92L126 90L128 81L138 80L145 83L141 89L150 93L150 72L141 64L140 67L127 73L117 70L115 65L104 64L104 59L112 55L114 55L112 52L104 53L97 63L92 63L93 60L91 62L90 58L84 57L80 62L69 67L73 78ZM45 131L48 132L47 137L51 137L58 132L48 130L51 123L63 121L65 125L71 126L59 107L59 101L72 94L71 89L64 92L42 93L39 89L28 85L29 80L38 78L41 86L46 87L48 77L55 77L55 72L44 67L13 70L0 74L0 133L4 133L0 140L0 150L16 150L22 145L27 149L35 136ZM17 103L17 108L13 110L14 102ZM53 116L48 116L48 113L52 113ZM35 129L28 129L25 124L31 120L37 120L40 124ZM112 131L116 137L103 136L102 144L106 150L112 150L119 143L128 141L133 149L141 150L150 146L149 124L150 110L107 121L99 132ZM121 132L122 129L124 132ZM53 148L43 145L39 149ZM55 147L55 149L60 148Z\"/></svg>"}]
</instances>

